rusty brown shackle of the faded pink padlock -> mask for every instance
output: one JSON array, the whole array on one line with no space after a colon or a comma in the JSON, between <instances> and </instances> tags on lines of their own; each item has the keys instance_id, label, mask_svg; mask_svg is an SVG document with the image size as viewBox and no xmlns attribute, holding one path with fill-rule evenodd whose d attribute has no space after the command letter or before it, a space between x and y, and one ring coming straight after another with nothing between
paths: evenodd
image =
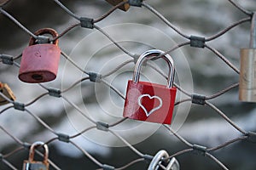
<instances>
[{"instance_id":1,"label":"rusty brown shackle of the faded pink padlock","mask_svg":"<svg viewBox=\"0 0 256 170\"><path fill-rule=\"evenodd\" d=\"M41 35L44 35L44 34L50 34L53 38L58 37L58 32L55 31L52 28L42 28L42 29L36 31L34 34L36 36L41 36ZM59 40L55 39L55 41L53 41L53 44L58 45L58 42L59 42ZM36 43L36 39L34 37L30 37L29 46L32 46L35 43Z\"/></svg>"}]
</instances>

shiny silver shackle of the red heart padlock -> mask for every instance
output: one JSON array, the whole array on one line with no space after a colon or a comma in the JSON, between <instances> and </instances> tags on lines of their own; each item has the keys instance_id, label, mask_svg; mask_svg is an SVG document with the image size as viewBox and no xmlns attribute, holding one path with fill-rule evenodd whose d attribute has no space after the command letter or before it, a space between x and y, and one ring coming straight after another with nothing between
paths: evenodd
<instances>
[{"instance_id":1,"label":"shiny silver shackle of the red heart padlock","mask_svg":"<svg viewBox=\"0 0 256 170\"><path fill-rule=\"evenodd\" d=\"M160 49L150 49L143 54L139 56L137 59L137 63L135 65L134 69L134 74L133 74L133 79L132 81L137 83L140 78L140 71L143 65L144 59L159 59L163 58L166 60L168 67L169 67L169 73L168 73L168 80L167 80L167 85L166 88L172 88L173 81L174 81L174 75L175 75L175 69L174 69L174 64L171 55L165 54L165 52L161 51Z\"/></svg>"}]
</instances>

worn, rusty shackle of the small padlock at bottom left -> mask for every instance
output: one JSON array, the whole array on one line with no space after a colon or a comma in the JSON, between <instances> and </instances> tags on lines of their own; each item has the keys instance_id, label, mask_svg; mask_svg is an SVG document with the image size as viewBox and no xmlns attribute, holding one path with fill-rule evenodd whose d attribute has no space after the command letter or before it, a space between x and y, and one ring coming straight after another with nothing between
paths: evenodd
<instances>
[{"instance_id":1,"label":"worn, rusty shackle of the small padlock at bottom left","mask_svg":"<svg viewBox=\"0 0 256 170\"><path fill-rule=\"evenodd\" d=\"M28 158L28 161L29 161L29 162L34 161L35 149L36 149L36 147L38 147L38 146L44 146L44 161L43 161L43 162L44 162L44 164L46 164L47 161L48 161L49 149L48 149L47 144L44 144L44 142L40 142L40 141L35 142L35 143L33 143L33 144L31 145L30 150L29 150L29 158Z\"/></svg>"}]
</instances>

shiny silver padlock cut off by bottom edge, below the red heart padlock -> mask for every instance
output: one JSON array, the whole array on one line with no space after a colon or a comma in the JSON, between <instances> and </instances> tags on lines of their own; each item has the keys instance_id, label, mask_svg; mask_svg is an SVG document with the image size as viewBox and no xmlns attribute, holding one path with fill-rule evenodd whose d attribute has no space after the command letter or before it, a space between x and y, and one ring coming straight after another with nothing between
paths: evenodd
<instances>
[{"instance_id":1,"label":"shiny silver padlock cut off by bottom edge, below the red heart padlock","mask_svg":"<svg viewBox=\"0 0 256 170\"><path fill-rule=\"evenodd\" d=\"M163 165L166 170L179 170L180 168L177 159L172 157L172 159L168 161L168 157L169 155L166 150L160 150L150 162L148 170L160 169L160 165Z\"/></svg>"}]
</instances>

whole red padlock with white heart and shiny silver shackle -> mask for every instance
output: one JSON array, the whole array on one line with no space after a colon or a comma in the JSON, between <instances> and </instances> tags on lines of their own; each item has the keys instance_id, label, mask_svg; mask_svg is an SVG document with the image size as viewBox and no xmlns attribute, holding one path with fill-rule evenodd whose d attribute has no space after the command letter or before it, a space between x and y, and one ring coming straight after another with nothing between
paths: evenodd
<instances>
[{"instance_id":1,"label":"whole red padlock with white heart and shiny silver shackle","mask_svg":"<svg viewBox=\"0 0 256 170\"><path fill-rule=\"evenodd\" d=\"M124 117L139 121L171 124L177 92L177 88L172 87L175 69L172 57L169 54L162 54L164 54L163 51L152 49L137 59L133 80L129 80L126 89ZM152 82L139 82L141 66L146 58L163 58L166 60L170 69L167 86Z\"/></svg>"}]
</instances>

